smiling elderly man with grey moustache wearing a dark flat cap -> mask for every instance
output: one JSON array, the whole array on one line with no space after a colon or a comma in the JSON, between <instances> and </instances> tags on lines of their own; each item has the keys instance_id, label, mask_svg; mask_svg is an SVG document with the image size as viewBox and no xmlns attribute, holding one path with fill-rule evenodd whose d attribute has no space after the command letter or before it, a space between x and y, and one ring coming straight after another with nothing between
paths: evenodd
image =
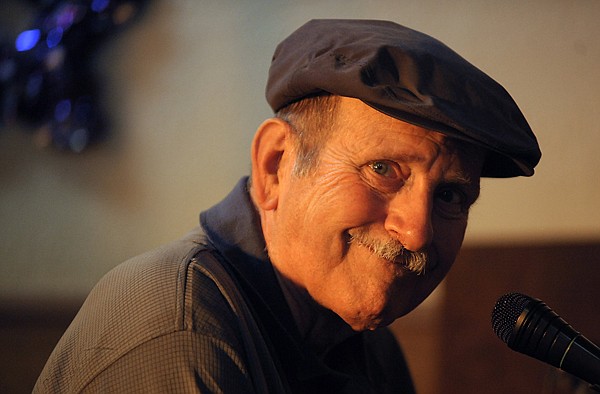
<instances>
[{"instance_id":1,"label":"smiling elderly man with grey moustache wearing a dark flat cap","mask_svg":"<svg viewBox=\"0 0 600 394\"><path fill-rule=\"evenodd\" d=\"M447 274L480 177L533 174L533 133L500 85L384 21L302 26L267 100L251 179L107 274L36 392L414 392L385 327Z\"/></svg>"}]
</instances>

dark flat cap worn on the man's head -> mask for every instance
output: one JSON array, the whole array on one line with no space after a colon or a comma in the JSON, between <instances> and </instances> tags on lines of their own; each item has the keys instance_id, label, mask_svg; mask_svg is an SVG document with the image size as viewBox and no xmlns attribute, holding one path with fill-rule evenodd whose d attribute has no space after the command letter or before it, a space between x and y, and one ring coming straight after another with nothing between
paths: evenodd
<instances>
[{"instance_id":1,"label":"dark flat cap worn on the man's head","mask_svg":"<svg viewBox=\"0 0 600 394\"><path fill-rule=\"evenodd\" d=\"M530 176L541 157L499 83L435 38L393 22L312 20L277 46L266 87L273 111L326 93L485 148L482 176Z\"/></svg>"}]
</instances>

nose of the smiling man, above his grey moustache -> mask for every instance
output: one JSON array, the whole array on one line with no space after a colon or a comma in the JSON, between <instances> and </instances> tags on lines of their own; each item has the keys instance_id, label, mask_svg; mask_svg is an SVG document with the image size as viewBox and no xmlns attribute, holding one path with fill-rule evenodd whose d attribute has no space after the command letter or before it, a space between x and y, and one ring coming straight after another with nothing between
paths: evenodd
<instances>
[{"instance_id":1,"label":"nose of the smiling man, above his grey moustache","mask_svg":"<svg viewBox=\"0 0 600 394\"><path fill-rule=\"evenodd\" d=\"M384 227L406 249L424 251L433 240L432 205L426 188L401 190L389 202Z\"/></svg>"}]
</instances>

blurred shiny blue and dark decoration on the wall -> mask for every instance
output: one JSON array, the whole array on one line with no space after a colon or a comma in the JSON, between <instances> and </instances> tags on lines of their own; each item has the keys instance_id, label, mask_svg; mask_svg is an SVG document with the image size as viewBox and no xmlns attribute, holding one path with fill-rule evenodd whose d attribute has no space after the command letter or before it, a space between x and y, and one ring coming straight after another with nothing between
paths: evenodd
<instances>
[{"instance_id":1,"label":"blurred shiny blue and dark decoration on the wall","mask_svg":"<svg viewBox=\"0 0 600 394\"><path fill-rule=\"evenodd\" d=\"M108 119L92 59L141 14L147 0L36 1L34 22L0 43L0 126L24 122L42 145L81 152Z\"/></svg>"}]
</instances>

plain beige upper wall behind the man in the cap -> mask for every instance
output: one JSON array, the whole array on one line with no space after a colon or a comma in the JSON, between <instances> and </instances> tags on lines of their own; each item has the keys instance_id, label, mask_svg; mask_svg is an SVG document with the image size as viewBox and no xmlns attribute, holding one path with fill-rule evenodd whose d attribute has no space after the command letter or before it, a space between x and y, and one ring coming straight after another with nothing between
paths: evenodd
<instances>
[{"instance_id":1,"label":"plain beige upper wall behind the man in the cap","mask_svg":"<svg viewBox=\"0 0 600 394\"><path fill-rule=\"evenodd\" d=\"M86 294L174 239L248 172L275 45L310 18L382 18L500 81L544 156L485 181L466 242L600 239L600 2L155 0L99 56L113 138L81 155L0 133L0 297Z\"/></svg>"}]
</instances>

